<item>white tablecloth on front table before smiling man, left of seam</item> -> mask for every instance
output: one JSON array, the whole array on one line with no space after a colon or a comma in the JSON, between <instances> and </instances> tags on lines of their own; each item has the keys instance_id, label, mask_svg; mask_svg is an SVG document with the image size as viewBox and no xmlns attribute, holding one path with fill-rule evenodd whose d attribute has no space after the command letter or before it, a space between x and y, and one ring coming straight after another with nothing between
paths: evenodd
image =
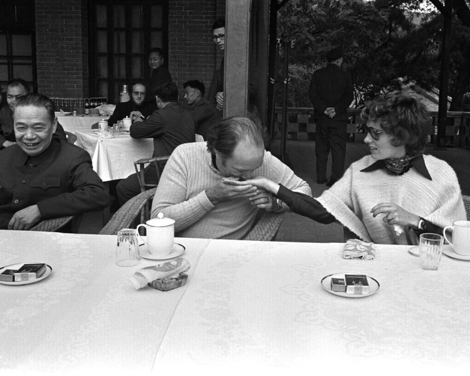
<instances>
[{"instance_id":1,"label":"white tablecloth on front table before smiling man, left of seam","mask_svg":"<svg viewBox=\"0 0 470 376\"><path fill-rule=\"evenodd\" d=\"M190 279L209 240L177 241L186 246ZM2 375L7 369L32 375L151 370L186 286L136 291L128 278L157 261L142 259L137 266L119 267L115 253L116 236L0 231L0 266L46 262L53 270L37 283L0 284Z\"/></svg>"}]
</instances>

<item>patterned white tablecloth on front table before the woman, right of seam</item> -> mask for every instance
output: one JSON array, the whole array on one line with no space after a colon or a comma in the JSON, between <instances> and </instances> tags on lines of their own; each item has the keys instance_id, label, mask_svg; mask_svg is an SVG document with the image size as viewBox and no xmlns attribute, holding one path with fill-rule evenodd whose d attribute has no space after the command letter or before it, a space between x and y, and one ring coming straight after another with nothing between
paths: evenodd
<instances>
[{"instance_id":1,"label":"patterned white tablecloth on front table before the woman, right of seam","mask_svg":"<svg viewBox=\"0 0 470 376\"><path fill-rule=\"evenodd\" d=\"M175 361L181 373L468 371L469 261L443 255L438 271L424 271L408 246L376 245L374 260L343 259L343 247L212 240L155 373ZM380 288L359 299L332 295L320 281L340 272L367 274Z\"/></svg>"}]
</instances>

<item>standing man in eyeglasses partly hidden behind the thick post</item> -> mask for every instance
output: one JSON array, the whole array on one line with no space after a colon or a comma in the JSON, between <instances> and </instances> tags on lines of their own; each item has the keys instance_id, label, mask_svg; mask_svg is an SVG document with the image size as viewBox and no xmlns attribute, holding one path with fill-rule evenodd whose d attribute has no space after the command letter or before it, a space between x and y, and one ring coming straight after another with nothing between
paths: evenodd
<instances>
[{"instance_id":1,"label":"standing man in eyeglasses partly hidden behind the thick post","mask_svg":"<svg viewBox=\"0 0 470 376\"><path fill-rule=\"evenodd\" d=\"M212 41L223 51L225 49L225 20L219 18L212 25ZM214 71L207 99L216 106L217 110L224 108L224 58L220 69Z\"/></svg>"}]
</instances>

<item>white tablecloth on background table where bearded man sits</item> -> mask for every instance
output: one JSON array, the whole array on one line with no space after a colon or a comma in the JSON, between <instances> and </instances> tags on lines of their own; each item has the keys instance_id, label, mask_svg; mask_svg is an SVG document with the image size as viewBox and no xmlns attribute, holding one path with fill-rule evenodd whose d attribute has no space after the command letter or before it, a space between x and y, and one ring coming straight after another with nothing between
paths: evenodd
<instances>
[{"instance_id":1,"label":"white tablecloth on background table where bearded man sits","mask_svg":"<svg viewBox=\"0 0 470 376\"><path fill-rule=\"evenodd\" d=\"M153 139L133 139L128 134L104 139L91 129L74 133L75 144L90 153L93 169L104 182L127 178L136 172L134 161L153 154Z\"/></svg>"}]
</instances>

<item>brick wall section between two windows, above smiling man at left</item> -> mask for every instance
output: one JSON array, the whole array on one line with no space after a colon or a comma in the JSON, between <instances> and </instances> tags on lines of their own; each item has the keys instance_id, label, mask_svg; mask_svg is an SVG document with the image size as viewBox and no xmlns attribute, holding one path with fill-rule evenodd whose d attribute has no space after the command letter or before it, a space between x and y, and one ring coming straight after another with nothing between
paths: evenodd
<instances>
[{"instance_id":1,"label":"brick wall section between two windows, above smiling man at left","mask_svg":"<svg viewBox=\"0 0 470 376\"><path fill-rule=\"evenodd\" d=\"M35 1L39 93L88 95L86 9L86 0Z\"/></svg>"}]
</instances>

